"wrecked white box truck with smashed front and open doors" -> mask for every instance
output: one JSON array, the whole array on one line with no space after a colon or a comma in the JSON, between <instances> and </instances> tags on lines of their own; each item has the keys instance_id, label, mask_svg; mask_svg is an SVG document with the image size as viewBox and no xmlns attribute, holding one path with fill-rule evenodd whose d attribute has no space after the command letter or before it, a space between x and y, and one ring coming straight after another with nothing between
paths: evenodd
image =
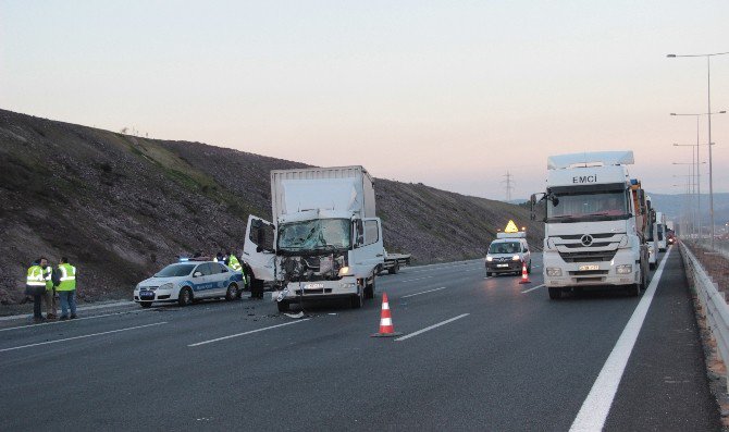
<instances>
[{"instance_id":1,"label":"wrecked white box truck with smashed front and open doors","mask_svg":"<svg viewBox=\"0 0 729 432\"><path fill-rule=\"evenodd\" d=\"M252 289L275 288L280 311L292 304L374 297L384 266L374 182L362 166L271 171L273 221L250 215L243 258Z\"/></svg>"}]
</instances>

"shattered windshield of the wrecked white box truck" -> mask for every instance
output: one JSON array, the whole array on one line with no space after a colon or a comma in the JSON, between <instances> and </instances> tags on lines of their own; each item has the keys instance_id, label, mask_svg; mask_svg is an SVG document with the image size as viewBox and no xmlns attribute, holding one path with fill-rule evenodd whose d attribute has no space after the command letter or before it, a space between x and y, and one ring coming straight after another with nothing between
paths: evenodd
<instances>
[{"instance_id":1,"label":"shattered windshield of the wrecked white box truck","mask_svg":"<svg viewBox=\"0 0 729 432\"><path fill-rule=\"evenodd\" d=\"M279 227L279 249L348 249L351 244L350 226L348 219L318 219L282 224Z\"/></svg>"}]
</instances>

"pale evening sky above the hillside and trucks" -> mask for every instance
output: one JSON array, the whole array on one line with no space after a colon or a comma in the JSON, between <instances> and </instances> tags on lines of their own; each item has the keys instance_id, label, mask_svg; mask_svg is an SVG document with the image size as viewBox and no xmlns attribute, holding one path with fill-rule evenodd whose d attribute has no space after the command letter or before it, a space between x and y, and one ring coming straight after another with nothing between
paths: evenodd
<instances>
[{"instance_id":1,"label":"pale evening sky above the hillside and trucks","mask_svg":"<svg viewBox=\"0 0 729 432\"><path fill-rule=\"evenodd\" d=\"M549 155L633 150L681 194L729 1L0 0L0 108L512 198ZM711 60L729 110L729 54ZM729 114L712 116L729 192ZM708 146L700 146L707 162ZM675 164L676 163L676 164ZM708 190L708 163L701 165Z\"/></svg>"}]
</instances>

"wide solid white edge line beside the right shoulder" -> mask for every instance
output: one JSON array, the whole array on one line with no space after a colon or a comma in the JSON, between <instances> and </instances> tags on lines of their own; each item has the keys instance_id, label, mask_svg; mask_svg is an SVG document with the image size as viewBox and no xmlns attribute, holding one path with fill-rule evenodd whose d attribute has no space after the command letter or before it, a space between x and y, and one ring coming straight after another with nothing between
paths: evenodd
<instances>
[{"instance_id":1,"label":"wide solid white edge line beside the right shoulder","mask_svg":"<svg viewBox=\"0 0 729 432\"><path fill-rule=\"evenodd\" d=\"M590 394L588 394L588 397L582 403L582 408L580 408L580 412L574 418L572 427L569 429L570 431L600 431L605 425L605 420L610 412L610 406L618 391L618 385L620 385L622 373L626 370L633 346L635 346L638 334L643 326L643 321L651 307L651 301L653 301L653 296L669 255L670 251L664 256L658 270L653 274L648 288L643 293L643 298L641 298L641 301L635 307L618 342L613 347L613 351L600 371L597 380L595 380L590 390Z\"/></svg>"}]
</instances>

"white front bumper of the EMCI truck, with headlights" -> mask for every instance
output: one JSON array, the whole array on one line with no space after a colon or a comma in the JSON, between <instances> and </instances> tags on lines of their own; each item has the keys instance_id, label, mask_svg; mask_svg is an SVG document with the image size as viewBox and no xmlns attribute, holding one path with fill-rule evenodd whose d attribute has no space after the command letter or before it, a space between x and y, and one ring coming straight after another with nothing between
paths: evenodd
<instances>
[{"instance_id":1,"label":"white front bumper of the EMCI truck, with headlights","mask_svg":"<svg viewBox=\"0 0 729 432\"><path fill-rule=\"evenodd\" d=\"M625 286L640 283L641 268L630 249L619 249L611 261L565 262L558 252L544 254L547 287Z\"/></svg>"}]
</instances>

